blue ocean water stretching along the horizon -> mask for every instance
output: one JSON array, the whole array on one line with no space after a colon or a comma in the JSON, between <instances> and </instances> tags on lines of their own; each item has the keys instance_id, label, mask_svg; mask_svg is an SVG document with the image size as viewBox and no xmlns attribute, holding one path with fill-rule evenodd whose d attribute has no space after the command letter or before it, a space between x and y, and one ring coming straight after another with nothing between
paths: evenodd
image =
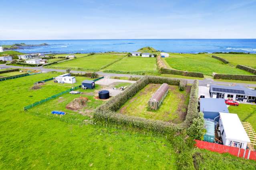
<instances>
[{"instance_id":1,"label":"blue ocean water stretching along the horizon","mask_svg":"<svg viewBox=\"0 0 256 170\"><path fill-rule=\"evenodd\" d=\"M0 45L14 43L49 44L17 50L23 53L131 52L145 46L175 53L212 53L217 51L256 53L256 39L0 40Z\"/></svg>"}]
</instances>

